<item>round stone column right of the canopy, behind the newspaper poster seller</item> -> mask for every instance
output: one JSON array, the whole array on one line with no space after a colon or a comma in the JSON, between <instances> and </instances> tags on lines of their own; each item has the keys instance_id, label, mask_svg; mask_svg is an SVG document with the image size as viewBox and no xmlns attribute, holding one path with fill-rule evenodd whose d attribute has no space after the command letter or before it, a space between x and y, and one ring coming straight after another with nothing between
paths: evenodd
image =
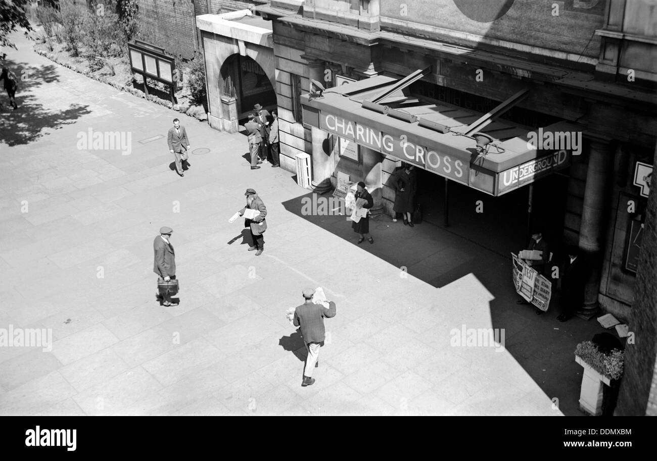
<instances>
[{"instance_id":1,"label":"round stone column right of the canopy, behind the newspaper poster seller","mask_svg":"<svg viewBox=\"0 0 657 461\"><path fill-rule=\"evenodd\" d=\"M584 203L579 227L579 250L583 253L589 273L584 290L584 305L578 317L589 319L598 313L598 292L602 273L602 250L608 219L608 188L614 151L610 141L589 139Z\"/></svg>"}]
</instances>

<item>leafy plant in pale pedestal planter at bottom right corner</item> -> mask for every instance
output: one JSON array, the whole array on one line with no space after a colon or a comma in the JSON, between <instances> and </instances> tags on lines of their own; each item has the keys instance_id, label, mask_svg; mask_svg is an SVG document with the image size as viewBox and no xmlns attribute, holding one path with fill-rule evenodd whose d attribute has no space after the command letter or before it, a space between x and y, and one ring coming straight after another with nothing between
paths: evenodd
<instances>
[{"instance_id":1,"label":"leafy plant in pale pedestal planter at bottom right corner","mask_svg":"<svg viewBox=\"0 0 657 461\"><path fill-rule=\"evenodd\" d=\"M625 353L612 349L608 354L600 351L593 341L583 341L575 349L575 361L583 368L579 407L589 414L602 414L603 384L616 387L623 375Z\"/></svg>"}]
</instances>

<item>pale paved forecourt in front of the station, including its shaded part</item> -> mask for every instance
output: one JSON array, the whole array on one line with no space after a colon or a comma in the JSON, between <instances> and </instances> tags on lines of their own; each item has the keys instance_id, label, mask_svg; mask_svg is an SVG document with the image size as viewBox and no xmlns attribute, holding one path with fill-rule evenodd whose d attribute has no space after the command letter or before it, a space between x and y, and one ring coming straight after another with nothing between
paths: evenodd
<instances>
[{"instance_id":1,"label":"pale paved forecourt in front of the station, including its shaded part","mask_svg":"<svg viewBox=\"0 0 657 461\"><path fill-rule=\"evenodd\" d=\"M301 213L310 192L293 173L250 170L243 135L14 37L7 64L27 77L19 110L0 112L0 338L43 328L53 341L0 341L0 414L580 414L573 352L600 328L516 305L508 257L459 226L385 216L374 244L358 245L343 216ZM184 178L166 145L176 116L193 150ZM129 154L83 143L90 129L130 133ZM249 187L268 211L261 256L228 222ZM164 225L181 284L171 307L152 273ZM322 286L337 315L317 382L301 387L306 349L284 313L306 286ZM505 347L470 343L473 328L503 329Z\"/></svg>"}]
</instances>

